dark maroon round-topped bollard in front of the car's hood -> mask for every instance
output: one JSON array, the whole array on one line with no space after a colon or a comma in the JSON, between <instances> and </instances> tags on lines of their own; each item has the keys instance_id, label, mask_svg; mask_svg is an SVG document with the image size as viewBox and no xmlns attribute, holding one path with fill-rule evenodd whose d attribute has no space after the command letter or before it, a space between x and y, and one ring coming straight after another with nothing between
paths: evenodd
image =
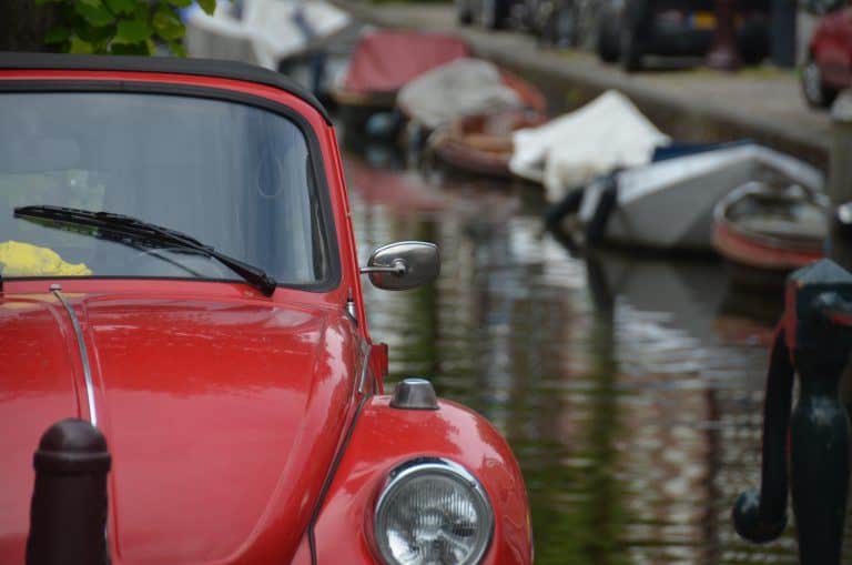
<instances>
[{"instance_id":1,"label":"dark maroon round-topped bollard in front of the car's hood","mask_svg":"<svg viewBox=\"0 0 852 565\"><path fill-rule=\"evenodd\" d=\"M105 565L106 440L93 425L53 424L33 456L27 565Z\"/></svg>"}]
</instances>

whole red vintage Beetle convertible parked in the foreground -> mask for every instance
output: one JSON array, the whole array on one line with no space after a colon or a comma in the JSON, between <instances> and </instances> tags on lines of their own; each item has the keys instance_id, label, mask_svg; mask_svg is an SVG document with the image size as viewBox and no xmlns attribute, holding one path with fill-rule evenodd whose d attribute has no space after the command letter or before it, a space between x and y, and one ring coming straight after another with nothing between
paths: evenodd
<instances>
[{"instance_id":1,"label":"whole red vintage Beetle convertible parked in the foreground","mask_svg":"<svg viewBox=\"0 0 852 565\"><path fill-rule=\"evenodd\" d=\"M3 54L0 147L0 563L531 563L495 428L425 380L383 393L361 276L413 287L438 252L358 263L310 94Z\"/></svg>"}]
</instances>

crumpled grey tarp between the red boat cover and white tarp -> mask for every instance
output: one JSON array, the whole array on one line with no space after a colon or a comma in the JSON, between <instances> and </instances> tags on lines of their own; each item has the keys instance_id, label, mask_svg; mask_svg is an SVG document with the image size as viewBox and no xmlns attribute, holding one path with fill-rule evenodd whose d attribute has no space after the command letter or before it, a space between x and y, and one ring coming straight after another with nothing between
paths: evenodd
<instances>
[{"instance_id":1,"label":"crumpled grey tarp between the red boat cover and white tarp","mask_svg":"<svg viewBox=\"0 0 852 565\"><path fill-rule=\"evenodd\" d=\"M500 70L480 59L457 59L420 74L402 88L397 103L430 129L465 115L524 108Z\"/></svg>"}]
</instances>

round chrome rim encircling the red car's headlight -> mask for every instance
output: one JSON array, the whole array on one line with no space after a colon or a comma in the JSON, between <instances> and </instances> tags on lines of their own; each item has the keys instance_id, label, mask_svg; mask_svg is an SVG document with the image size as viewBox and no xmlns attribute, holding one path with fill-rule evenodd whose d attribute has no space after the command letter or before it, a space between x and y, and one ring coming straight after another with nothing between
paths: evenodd
<instances>
[{"instance_id":1,"label":"round chrome rim encircling the red car's headlight","mask_svg":"<svg viewBox=\"0 0 852 565\"><path fill-rule=\"evenodd\" d=\"M383 539L384 536L378 535L379 509L388 501L388 498L390 498L390 496L394 495L400 487L405 486L409 480L423 474L444 475L459 481L460 483L465 484L483 504L483 507L486 509L485 543L483 543L481 546L478 547L477 551L468 557L465 565L476 565L477 563L481 562L485 554L488 553L488 549L491 547L491 543L494 541L494 506L491 506L491 501L488 497L488 493L486 493L485 488L476 478L476 476L474 476L474 474L463 465L444 457L417 457L397 465L390 471L390 473L388 473L387 478L382 486L381 494L376 500L376 504L373 507L373 534L378 554L382 556L383 563L385 563L385 565L395 565L397 561L390 553L390 548L388 547L387 543Z\"/></svg>"}]
</instances>

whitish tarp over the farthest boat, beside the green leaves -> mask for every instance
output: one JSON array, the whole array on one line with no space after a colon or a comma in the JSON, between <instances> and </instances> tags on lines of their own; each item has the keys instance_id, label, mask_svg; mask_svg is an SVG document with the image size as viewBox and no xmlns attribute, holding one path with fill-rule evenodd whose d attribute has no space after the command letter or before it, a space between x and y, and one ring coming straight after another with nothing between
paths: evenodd
<instances>
[{"instance_id":1,"label":"whitish tarp over the farthest boat, beside the green leaves","mask_svg":"<svg viewBox=\"0 0 852 565\"><path fill-rule=\"evenodd\" d=\"M343 30L351 22L343 10L323 0L244 0L242 18L230 2L213 16L192 10L186 39L193 57L250 61L276 70L317 37Z\"/></svg>"}]
</instances>

